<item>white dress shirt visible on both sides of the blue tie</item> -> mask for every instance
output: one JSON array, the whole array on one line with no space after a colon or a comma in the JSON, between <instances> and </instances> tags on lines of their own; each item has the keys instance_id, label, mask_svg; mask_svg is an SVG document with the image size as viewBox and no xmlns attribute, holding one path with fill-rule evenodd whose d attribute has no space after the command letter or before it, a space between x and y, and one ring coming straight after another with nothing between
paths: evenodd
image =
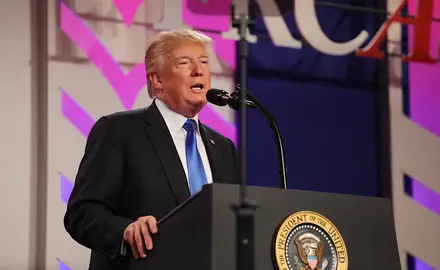
<instances>
[{"instance_id":1,"label":"white dress shirt visible on both sides of the blue tie","mask_svg":"<svg viewBox=\"0 0 440 270\"><path fill-rule=\"evenodd\" d=\"M155 100L157 108L162 115L168 130L173 138L174 145L176 146L177 153L179 154L180 161L182 162L183 169L185 170L186 179L188 181L188 166L186 164L186 130L183 128L187 118L181 114L172 111L161 100ZM197 149L199 150L200 157L202 158L203 167L205 168L206 180L208 184L212 183L212 172L209 165L208 154L206 153L205 144L203 143L202 136L200 135L200 126L198 116L193 117L197 123ZM188 181L189 186L189 181Z\"/></svg>"}]
</instances>

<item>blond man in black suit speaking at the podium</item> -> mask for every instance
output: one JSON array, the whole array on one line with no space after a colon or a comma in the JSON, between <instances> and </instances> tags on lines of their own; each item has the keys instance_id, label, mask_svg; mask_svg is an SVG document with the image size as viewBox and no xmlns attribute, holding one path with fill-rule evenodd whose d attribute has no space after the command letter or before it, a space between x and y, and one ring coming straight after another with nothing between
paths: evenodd
<instances>
[{"instance_id":1,"label":"blond man in black suit speaking at the podium","mask_svg":"<svg viewBox=\"0 0 440 270\"><path fill-rule=\"evenodd\" d=\"M64 217L92 250L89 269L126 269L127 252L145 258L157 220L204 184L238 182L234 144L197 118L211 87L210 46L193 30L158 34L145 55L153 103L92 128Z\"/></svg>"}]
</instances>

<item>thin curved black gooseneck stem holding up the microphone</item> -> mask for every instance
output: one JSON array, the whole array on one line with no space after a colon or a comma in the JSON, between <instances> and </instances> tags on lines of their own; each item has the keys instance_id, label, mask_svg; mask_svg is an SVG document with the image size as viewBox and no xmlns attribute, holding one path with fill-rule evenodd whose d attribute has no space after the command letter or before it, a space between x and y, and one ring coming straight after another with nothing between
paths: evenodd
<instances>
[{"instance_id":1,"label":"thin curved black gooseneck stem holding up the microphone","mask_svg":"<svg viewBox=\"0 0 440 270\"><path fill-rule=\"evenodd\" d=\"M278 166L279 166L279 174L280 174L280 187L283 189L287 189L287 169L284 158L284 148L283 148L283 140L281 139L280 129L278 128L277 121L275 117L269 112L269 110L264 106L264 104L254 96L250 91L246 88L241 88L240 85L236 87L237 91L240 93L244 93L266 116L269 121L269 126L273 130L275 135L275 143L277 145L278 150Z\"/></svg>"}]
</instances>

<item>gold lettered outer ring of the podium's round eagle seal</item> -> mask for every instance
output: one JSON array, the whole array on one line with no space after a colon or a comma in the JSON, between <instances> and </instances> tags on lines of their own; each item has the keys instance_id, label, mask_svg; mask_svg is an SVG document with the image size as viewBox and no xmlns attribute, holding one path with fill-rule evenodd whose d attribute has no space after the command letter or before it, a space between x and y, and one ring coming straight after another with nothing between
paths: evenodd
<instances>
[{"instance_id":1,"label":"gold lettered outer ring of the podium's round eagle seal","mask_svg":"<svg viewBox=\"0 0 440 270\"><path fill-rule=\"evenodd\" d=\"M279 270L290 270L285 258L286 241L289 234L302 224L313 224L324 230L335 245L338 265L336 270L348 269L347 246L338 228L325 216L313 211L299 211L286 217L276 231L273 241L276 267Z\"/></svg>"}]
</instances>

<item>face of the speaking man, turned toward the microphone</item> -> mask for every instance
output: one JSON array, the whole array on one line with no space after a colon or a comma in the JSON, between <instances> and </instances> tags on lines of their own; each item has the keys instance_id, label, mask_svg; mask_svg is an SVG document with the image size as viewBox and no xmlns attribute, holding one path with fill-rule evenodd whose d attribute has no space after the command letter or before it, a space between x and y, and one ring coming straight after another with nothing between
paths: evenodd
<instances>
[{"instance_id":1,"label":"face of the speaking man, turned toward the microphone","mask_svg":"<svg viewBox=\"0 0 440 270\"><path fill-rule=\"evenodd\" d=\"M206 105L206 92L211 88L206 48L194 42L179 44L153 76L153 83L157 97L170 109L193 117Z\"/></svg>"}]
</instances>

